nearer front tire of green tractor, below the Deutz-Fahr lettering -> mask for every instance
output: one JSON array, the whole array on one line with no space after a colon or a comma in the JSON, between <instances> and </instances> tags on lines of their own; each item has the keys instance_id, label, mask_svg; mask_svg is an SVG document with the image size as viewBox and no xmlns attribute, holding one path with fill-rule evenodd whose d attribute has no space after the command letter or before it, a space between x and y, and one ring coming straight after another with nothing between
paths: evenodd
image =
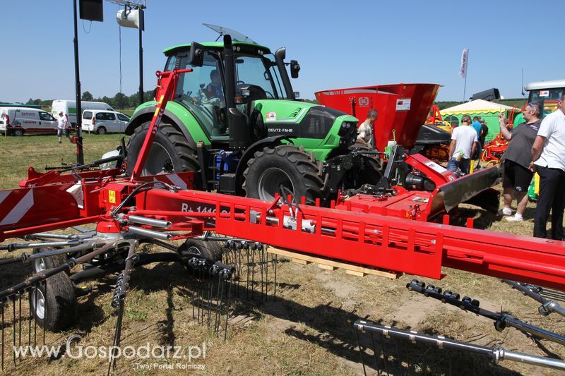
<instances>
[{"instance_id":1,"label":"nearer front tire of green tractor, below the Deutz-Fahr lettering","mask_svg":"<svg viewBox=\"0 0 565 376\"><path fill-rule=\"evenodd\" d=\"M304 147L265 147L249 159L243 176L246 197L272 201L282 185L297 200L305 197L309 205L323 199L322 165Z\"/></svg>"}]
</instances>

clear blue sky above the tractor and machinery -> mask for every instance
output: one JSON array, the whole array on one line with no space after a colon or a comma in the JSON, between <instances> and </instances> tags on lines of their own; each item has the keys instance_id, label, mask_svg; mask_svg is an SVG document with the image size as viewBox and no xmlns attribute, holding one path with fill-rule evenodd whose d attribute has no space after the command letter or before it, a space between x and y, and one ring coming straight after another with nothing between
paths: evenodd
<instances>
[{"instance_id":1,"label":"clear blue sky above the tractor and machinery","mask_svg":"<svg viewBox=\"0 0 565 376\"><path fill-rule=\"evenodd\" d=\"M1 1L0 101L73 99L73 1ZM104 23L79 20L82 90L114 96L119 84L116 4ZM438 100L498 87L521 97L524 83L565 78L563 2L552 1L171 1L147 0L145 90L165 65L162 49L215 40L202 23L238 30L297 59L302 98L319 90L386 83L439 83ZM138 90L138 31L121 30L122 92Z\"/></svg>"}]
</instances>

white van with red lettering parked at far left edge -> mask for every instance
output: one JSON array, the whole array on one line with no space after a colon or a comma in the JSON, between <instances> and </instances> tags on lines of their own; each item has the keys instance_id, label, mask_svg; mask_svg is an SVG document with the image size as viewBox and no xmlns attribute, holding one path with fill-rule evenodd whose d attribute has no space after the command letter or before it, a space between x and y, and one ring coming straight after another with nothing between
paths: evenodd
<instances>
[{"instance_id":1,"label":"white van with red lettering parked at far left edge","mask_svg":"<svg viewBox=\"0 0 565 376\"><path fill-rule=\"evenodd\" d=\"M5 124L1 114L8 114L9 124ZM0 107L0 133L8 128L9 135L24 133L57 133L57 119L42 109L29 107Z\"/></svg>"}]
</instances>

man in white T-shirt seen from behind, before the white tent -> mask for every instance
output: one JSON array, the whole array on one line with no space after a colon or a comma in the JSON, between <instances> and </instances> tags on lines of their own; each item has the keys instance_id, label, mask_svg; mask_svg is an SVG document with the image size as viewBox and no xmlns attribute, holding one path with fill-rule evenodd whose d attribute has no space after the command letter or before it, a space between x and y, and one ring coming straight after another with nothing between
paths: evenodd
<instances>
[{"instance_id":1,"label":"man in white T-shirt seen from behind, before the white tent","mask_svg":"<svg viewBox=\"0 0 565 376\"><path fill-rule=\"evenodd\" d=\"M449 162L447 162L449 171L455 172L460 169L463 174L469 174L471 156L477 147L477 131L470 124L471 116L463 115L461 125L451 133Z\"/></svg>"}]
</instances>

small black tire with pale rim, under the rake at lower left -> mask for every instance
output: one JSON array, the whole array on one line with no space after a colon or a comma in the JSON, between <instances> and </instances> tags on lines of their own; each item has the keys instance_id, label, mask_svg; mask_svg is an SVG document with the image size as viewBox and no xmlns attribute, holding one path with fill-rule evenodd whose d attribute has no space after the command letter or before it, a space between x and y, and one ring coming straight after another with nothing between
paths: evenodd
<instances>
[{"instance_id":1,"label":"small black tire with pale rim, under the rake at lower left","mask_svg":"<svg viewBox=\"0 0 565 376\"><path fill-rule=\"evenodd\" d=\"M66 273L47 278L46 284L30 289L29 296L32 315L40 327L59 332L73 322L76 293L73 282Z\"/></svg>"}]
</instances>

